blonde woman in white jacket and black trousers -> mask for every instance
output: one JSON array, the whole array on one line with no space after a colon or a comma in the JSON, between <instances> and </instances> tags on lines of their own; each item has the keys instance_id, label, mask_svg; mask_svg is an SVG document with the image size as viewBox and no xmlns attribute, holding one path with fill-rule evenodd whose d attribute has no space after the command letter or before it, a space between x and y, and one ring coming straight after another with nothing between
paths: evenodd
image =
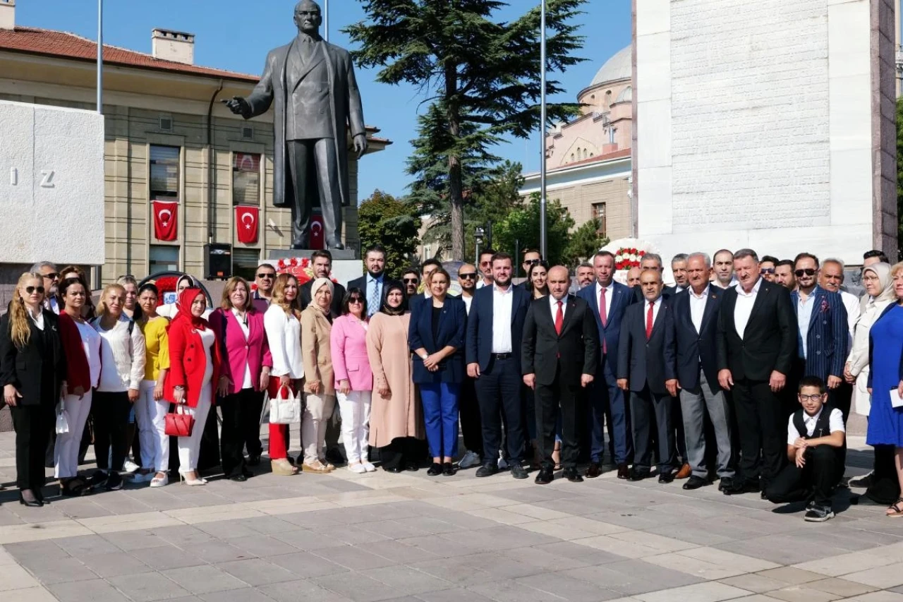
<instances>
[{"instance_id":1,"label":"blonde woman in white jacket and black trousers","mask_svg":"<svg viewBox=\"0 0 903 602\"><path fill-rule=\"evenodd\" d=\"M107 285L100 296L98 317L91 323L100 334L100 381L91 400L94 453L98 469L107 471L107 489L122 488L119 472L126 460L126 429L132 404L144 379L144 334L123 312L126 289ZM108 453L113 447L112 465ZM98 475L98 479L104 478Z\"/></svg>"}]
</instances>

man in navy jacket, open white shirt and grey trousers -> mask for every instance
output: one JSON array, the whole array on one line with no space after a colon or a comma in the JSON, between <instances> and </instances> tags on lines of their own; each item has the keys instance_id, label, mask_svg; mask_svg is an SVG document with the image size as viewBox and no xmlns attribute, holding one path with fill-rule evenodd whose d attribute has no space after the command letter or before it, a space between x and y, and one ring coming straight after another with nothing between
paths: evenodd
<instances>
[{"instance_id":1,"label":"man in navy jacket, open white shirt and grey trousers","mask_svg":"<svg viewBox=\"0 0 903 602\"><path fill-rule=\"evenodd\" d=\"M693 253L686 259L689 288L675 295L675 345L681 415L684 420L687 461L692 475L684 489L708 484L706 467L706 415L717 444L719 489L733 486L731 462L731 408L718 384L715 339L724 291L712 287L712 259Z\"/></svg>"}]
</instances>

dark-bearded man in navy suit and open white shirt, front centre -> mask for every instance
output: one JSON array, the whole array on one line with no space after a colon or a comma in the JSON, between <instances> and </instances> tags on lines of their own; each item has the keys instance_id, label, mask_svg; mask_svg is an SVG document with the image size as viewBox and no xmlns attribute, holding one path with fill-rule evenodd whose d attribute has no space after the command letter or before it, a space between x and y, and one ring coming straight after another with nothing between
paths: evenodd
<instances>
[{"instance_id":1,"label":"dark-bearded man in navy suit and open white shirt, front centre","mask_svg":"<svg viewBox=\"0 0 903 602\"><path fill-rule=\"evenodd\" d=\"M511 256L492 258L491 287L480 288L470 303L465 356L467 373L476 379L479 416L483 424L483 466L477 476L498 472L498 447L505 415L508 465L511 475L526 479L520 466L524 455L524 416L521 409L520 349L530 294L511 284Z\"/></svg>"}]
</instances>

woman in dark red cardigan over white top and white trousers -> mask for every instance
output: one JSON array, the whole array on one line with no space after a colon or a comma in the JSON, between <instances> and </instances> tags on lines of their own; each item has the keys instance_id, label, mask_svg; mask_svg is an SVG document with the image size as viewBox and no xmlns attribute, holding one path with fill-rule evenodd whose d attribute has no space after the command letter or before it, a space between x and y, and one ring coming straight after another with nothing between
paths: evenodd
<instances>
[{"instance_id":1,"label":"woman in dark red cardigan over white top and white trousers","mask_svg":"<svg viewBox=\"0 0 903 602\"><path fill-rule=\"evenodd\" d=\"M60 337L66 353L66 389L63 409L69 419L69 432L58 433L54 447L54 475L60 479L63 495L90 493L87 480L79 477L79 444L91 411L94 388L100 380L100 335L81 315L88 290L78 277L60 284L63 311L60 312Z\"/></svg>"}]
</instances>

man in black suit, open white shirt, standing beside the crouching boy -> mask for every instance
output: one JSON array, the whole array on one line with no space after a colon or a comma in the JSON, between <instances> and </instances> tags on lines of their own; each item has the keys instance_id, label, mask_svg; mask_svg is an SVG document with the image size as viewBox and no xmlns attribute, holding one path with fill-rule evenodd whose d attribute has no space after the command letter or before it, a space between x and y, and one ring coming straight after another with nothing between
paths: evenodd
<instances>
[{"instance_id":1,"label":"man in black suit, open white shirt, standing beside the crouching boy","mask_svg":"<svg viewBox=\"0 0 903 602\"><path fill-rule=\"evenodd\" d=\"M733 254L736 287L718 315L718 382L731 390L740 437L740 475L725 494L764 491L784 461L786 416L777 395L796 355L796 318L790 291L759 275L752 249Z\"/></svg>"}]
</instances>

